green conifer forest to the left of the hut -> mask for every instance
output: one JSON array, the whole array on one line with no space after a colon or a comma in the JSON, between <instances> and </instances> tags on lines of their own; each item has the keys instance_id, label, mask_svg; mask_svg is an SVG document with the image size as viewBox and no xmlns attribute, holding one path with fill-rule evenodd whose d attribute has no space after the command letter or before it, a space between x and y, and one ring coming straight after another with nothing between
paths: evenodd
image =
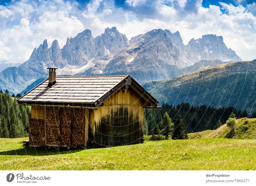
<instances>
[{"instance_id":1,"label":"green conifer forest to the left of the hut","mask_svg":"<svg viewBox=\"0 0 256 186\"><path fill-rule=\"evenodd\" d=\"M0 124L3 138L28 136L28 106L16 105L16 97L11 97L8 90L0 91Z\"/></svg>"}]
</instances>

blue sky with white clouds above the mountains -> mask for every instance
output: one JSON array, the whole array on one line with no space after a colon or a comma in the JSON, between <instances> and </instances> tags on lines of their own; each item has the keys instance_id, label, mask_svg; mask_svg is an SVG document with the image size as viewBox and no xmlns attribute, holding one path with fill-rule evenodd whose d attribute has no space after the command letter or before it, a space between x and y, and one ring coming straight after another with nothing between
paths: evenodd
<instances>
[{"instance_id":1,"label":"blue sky with white clouds above the mountains","mask_svg":"<svg viewBox=\"0 0 256 186\"><path fill-rule=\"evenodd\" d=\"M243 60L256 58L255 0L0 0L0 60L24 62L35 47L116 26L128 39L152 29L179 31L184 44L222 35Z\"/></svg>"}]
</instances>

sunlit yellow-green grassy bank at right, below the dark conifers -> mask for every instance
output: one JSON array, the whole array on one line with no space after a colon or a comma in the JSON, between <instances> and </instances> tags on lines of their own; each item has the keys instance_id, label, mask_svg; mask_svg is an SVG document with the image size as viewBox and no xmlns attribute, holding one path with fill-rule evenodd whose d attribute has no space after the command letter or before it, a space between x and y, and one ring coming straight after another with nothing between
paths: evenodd
<instances>
[{"instance_id":1,"label":"sunlit yellow-green grassy bank at right, below the dark conifers","mask_svg":"<svg viewBox=\"0 0 256 186\"><path fill-rule=\"evenodd\" d=\"M220 126L216 130L205 130L188 134L190 139L194 138L224 138L228 137L230 129L226 124ZM236 120L234 139L256 139L256 119L241 118Z\"/></svg>"}]
</instances>

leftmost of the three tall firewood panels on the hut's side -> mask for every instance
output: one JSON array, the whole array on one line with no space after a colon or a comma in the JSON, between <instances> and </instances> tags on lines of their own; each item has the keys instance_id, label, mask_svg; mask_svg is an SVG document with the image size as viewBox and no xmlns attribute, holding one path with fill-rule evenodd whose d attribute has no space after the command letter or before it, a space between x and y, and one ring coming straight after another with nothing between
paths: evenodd
<instances>
[{"instance_id":1,"label":"leftmost of the three tall firewood panels on the hut's side","mask_svg":"<svg viewBox=\"0 0 256 186\"><path fill-rule=\"evenodd\" d=\"M46 107L46 144L60 145L59 112L57 107Z\"/></svg>"}]
</instances>

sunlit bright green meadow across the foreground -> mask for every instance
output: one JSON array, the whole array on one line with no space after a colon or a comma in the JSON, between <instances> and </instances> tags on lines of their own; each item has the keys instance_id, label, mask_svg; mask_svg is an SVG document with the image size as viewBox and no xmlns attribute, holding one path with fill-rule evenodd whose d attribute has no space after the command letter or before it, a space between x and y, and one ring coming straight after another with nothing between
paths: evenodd
<instances>
[{"instance_id":1,"label":"sunlit bright green meadow across the foreground","mask_svg":"<svg viewBox=\"0 0 256 186\"><path fill-rule=\"evenodd\" d=\"M0 138L1 170L255 170L256 140L204 138L72 151Z\"/></svg>"}]
</instances>

